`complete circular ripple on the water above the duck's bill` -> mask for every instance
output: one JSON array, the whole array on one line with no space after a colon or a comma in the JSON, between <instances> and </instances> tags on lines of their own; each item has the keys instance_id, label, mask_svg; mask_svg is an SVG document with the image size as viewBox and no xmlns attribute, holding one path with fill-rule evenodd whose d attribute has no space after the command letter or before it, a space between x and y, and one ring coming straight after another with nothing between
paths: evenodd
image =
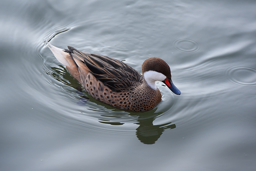
<instances>
[{"instance_id":1,"label":"complete circular ripple on the water above the duck's bill","mask_svg":"<svg viewBox=\"0 0 256 171\"><path fill-rule=\"evenodd\" d=\"M199 51L200 46L196 40L179 38L173 41L174 48L183 53L194 53Z\"/></svg>"}]
</instances>

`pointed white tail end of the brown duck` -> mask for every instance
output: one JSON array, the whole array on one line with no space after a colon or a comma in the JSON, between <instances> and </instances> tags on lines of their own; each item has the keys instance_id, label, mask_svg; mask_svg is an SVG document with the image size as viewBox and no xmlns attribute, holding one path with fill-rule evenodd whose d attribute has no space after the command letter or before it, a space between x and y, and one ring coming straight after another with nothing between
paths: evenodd
<instances>
[{"instance_id":1,"label":"pointed white tail end of the brown duck","mask_svg":"<svg viewBox=\"0 0 256 171\"><path fill-rule=\"evenodd\" d=\"M69 54L67 52L64 52L63 49L52 46L49 43L48 43L48 47L60 63L62 63L63 65L65 65L67 67L70 67L68 61L66 60L67 56L69 56Z\"/></svg>"}]
</instances>

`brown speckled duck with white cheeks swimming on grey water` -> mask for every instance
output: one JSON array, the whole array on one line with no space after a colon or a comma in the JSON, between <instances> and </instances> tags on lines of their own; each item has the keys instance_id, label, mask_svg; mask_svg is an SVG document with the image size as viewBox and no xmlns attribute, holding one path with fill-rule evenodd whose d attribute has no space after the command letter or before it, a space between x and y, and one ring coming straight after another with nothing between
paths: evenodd
<instances>
[{"instance_id":1,"label":"brown speckled duck with white cheeks swimming on grey water","mask_svg":"<svg viewBox=\"0 0 256 171\"><path fill-rule=\"evenodd\" d=\"M146 59L141 75L114 58L71 46L60 49L48 43L48 47L89 95L114 108L129 112L152 110L162 100L156 81L162 81L174 94L181 94L172 82L169 65L161 58Z\"/></svg>"}]
</instances>

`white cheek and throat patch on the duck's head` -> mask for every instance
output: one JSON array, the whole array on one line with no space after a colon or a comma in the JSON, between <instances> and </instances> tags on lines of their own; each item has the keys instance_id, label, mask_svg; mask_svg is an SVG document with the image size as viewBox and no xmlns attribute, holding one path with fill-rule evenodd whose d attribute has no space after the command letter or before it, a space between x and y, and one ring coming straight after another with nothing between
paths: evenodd
<instances>
[{"instance_id":1,"label":"white cheek and throat patch on the duck's head","mask_svg":"<svg viewBox=\"0 0 256 171\"><path fill-rule=\"evenodd\" d=\"M164 81L166 79L166 76L164 74L156 71L146 71L144 72L143 76L147 84L155 90L157 89L155 82Z\"/></svg>"}]
</instances>

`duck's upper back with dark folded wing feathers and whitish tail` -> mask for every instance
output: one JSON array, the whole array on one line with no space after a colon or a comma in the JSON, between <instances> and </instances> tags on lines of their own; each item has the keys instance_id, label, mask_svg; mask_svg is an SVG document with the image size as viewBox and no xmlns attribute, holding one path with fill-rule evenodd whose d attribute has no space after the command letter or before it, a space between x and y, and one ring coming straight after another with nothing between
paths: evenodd
<instances>
[{"instance_id":1,"label":"duck's upper back with dark folded wing feathers and whitish tail","mask_svg":"<svg viewBox=\"0 0 256 171\"><path fill-rule=\"evenodd\" d=\"M71 75L84 86L87 74L91 73L98 81L115 92L142 84L142 75L122 61L97 54L81 52L73 47L62 50L51 46L55 57L67 67ZM59 55L61 54L61 55Z\"/></svg>"}]
</instances>

